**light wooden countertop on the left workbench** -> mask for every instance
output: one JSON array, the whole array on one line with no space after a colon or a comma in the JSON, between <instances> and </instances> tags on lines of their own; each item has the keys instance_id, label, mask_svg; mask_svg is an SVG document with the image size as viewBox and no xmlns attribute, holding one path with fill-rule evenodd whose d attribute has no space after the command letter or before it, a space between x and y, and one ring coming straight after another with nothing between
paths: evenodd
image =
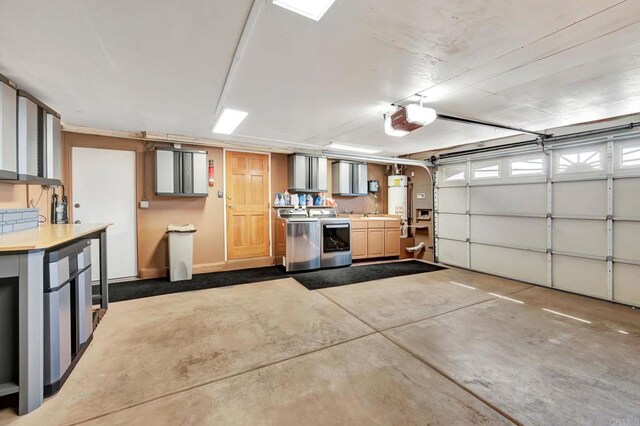
<instances>
[{"instance_id":1,"label":"light wooden countertop on the left workbench","mask_svg":"<svg viewBox=\"0 0 640 426\"><path fill-rule=\"evenodd\" d=\"M91 235L111 226L111 223L43 225L35 229L0 235L0 253L45 250Z\"/></svg>"}]
</instances>

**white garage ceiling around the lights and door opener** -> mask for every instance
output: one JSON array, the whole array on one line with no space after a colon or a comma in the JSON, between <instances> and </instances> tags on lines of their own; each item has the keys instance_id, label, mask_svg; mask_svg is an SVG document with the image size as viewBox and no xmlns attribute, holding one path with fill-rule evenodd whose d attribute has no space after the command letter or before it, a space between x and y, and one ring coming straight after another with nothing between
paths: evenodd
<instances>
[{"instance_id":1,"label":"white garage ceiling around the lights and door opener","mask_svg":"<svg viewBox=\"0 0 640 426\"><path fill-rule=\"evenodd\" d=\"M256 0L264 2L265 0ZM66 123L213 138L250 0L0 0L0 73ZM513 134L436 120L404 138L382 113L533 130L640 111L638 0L336 0L319 22L267 1L227 87L229 139L400 155Z\"/></svg>"}]
</instances>

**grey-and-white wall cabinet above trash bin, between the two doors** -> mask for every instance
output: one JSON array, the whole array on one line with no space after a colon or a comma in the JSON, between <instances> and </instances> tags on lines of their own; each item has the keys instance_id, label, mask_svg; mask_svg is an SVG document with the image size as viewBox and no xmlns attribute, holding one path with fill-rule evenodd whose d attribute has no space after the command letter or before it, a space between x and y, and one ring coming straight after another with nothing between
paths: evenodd
<instances>
[{"instance_id":1,"label":"grey-and-white wall cabinet above trash bin, between the two doors","mask_svg":"<svg viewBox=\"0 0 640 426\"><path fill-rule=\"evenodd\" d=\"M209 196L206 151L156 149L156 195Z\"/></svg>"}]
</instances>

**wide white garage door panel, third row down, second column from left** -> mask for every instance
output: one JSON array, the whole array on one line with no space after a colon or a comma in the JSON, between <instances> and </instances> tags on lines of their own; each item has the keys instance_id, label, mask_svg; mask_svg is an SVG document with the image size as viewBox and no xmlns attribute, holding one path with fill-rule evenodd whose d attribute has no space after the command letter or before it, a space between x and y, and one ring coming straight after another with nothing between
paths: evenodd
<instances>
[{"instance_id":1,"label":"wide white garage door panel, third row down, second column from left","mask_svg":"<svg viewBox=\"0 0 640 426\"><path fill-rule=\"evenodd\" d=\"M547 220L524 217L471 216L471 241L545 250Z\"/></svg>"}]
</instances>

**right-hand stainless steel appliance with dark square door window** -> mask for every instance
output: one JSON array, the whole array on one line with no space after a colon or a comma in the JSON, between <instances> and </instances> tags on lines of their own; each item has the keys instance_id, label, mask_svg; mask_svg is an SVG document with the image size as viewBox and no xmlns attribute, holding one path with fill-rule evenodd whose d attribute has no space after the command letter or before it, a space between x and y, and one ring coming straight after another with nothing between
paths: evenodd
<instances>
[{"instance_id":1,"label":"right-hand stainless steel appliance with dark square door window","mask_svg":"<svg viewBox=\"0 0 640 426\"><path fill-rule=\"evenodd\" d=\"M314 209L309 216L320 219L320 266L351 265L351 219L338 217L334 209Z\"/></svg>"}]
</instances>

